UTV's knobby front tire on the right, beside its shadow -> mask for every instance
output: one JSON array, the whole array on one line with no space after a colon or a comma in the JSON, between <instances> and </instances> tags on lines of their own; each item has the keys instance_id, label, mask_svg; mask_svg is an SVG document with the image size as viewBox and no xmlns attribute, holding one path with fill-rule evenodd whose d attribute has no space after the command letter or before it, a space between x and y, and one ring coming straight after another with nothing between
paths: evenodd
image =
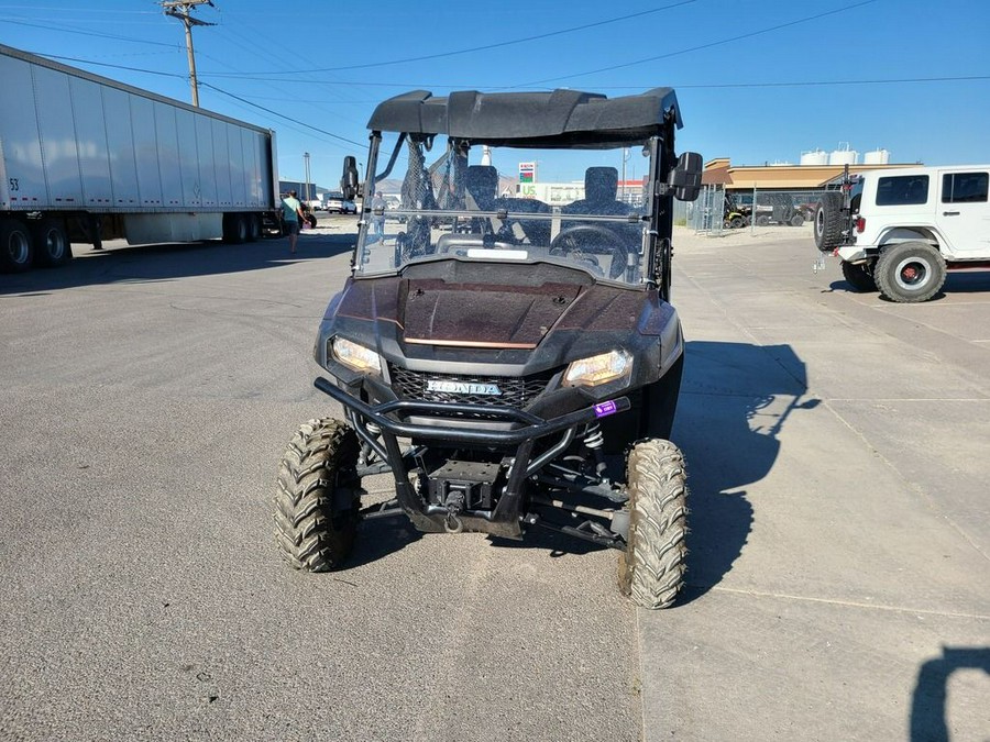
<instances>
[{"instance_id":1,"label":"UTV's knobby front tire on the right, beside its shadow","mask_svg":"<svg viewBox=\"0 0 990 742\"><path fill-rule=\"evenodd\" d=\"M629 454L629 538L619 554L619 589L642 608L669 608L684 584L688 487L684 456L650 439Z\"/></svg>"}]
</instances>

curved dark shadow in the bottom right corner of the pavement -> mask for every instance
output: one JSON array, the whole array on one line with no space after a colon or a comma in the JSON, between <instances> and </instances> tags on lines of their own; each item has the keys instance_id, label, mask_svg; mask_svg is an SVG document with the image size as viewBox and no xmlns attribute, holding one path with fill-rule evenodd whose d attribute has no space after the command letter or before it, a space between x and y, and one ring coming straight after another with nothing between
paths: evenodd
<instances>
[{"instance_id":1,"label":"curved dark shadow in the bottom right corner of the pavement","mask_svg":"<svg viewBox=\"0 0 990 742\"><path fill-rule=\"evenodd\" d=\"M911 698L911 742L948 742L949 679L965 669L981 669L990 676L990 647L943 646L942 656L922 664Z\"/></svg>"}]
</instances>

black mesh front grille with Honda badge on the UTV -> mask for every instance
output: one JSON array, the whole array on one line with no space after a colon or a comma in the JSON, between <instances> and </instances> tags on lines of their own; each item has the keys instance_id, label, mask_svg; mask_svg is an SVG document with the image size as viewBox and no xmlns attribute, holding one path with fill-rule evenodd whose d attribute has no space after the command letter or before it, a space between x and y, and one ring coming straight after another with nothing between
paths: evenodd
<instances>
[{"instance_id":1,"label":"black mesh front grille with Honda badge on the UTV","mask_svg":"<svg viewBox=\"0 0 990 742\"><path fill-rule=\"evenodd\" d=\"M464 376L460 374L432 374L389 366L392 389L399 399L426 402L460 402L490 407L525 409L550 383L552 374L536 376ZM430 388L430 381L436 383ZM493 390L501 394L483 394Z\"/></svg>"}]
</instances>

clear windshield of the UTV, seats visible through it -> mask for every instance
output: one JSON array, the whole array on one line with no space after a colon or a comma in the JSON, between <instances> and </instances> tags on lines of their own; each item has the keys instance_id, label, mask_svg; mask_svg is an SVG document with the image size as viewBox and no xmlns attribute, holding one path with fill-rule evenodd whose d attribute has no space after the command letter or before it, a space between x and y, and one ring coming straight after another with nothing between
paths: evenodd
<instances>
[{"instance_id":1,"label":"clear windshield of the UTV, seats visible through it","mask_svg":"<svg viewBox=\"0 0 990 742\"><path fill-rule=\"evenodd\" d=\"M636 285L649 275L648 147L429 144L386 133L373 146L356 275L449 258L553 262Z\"/></svg>"}]
</instances>

